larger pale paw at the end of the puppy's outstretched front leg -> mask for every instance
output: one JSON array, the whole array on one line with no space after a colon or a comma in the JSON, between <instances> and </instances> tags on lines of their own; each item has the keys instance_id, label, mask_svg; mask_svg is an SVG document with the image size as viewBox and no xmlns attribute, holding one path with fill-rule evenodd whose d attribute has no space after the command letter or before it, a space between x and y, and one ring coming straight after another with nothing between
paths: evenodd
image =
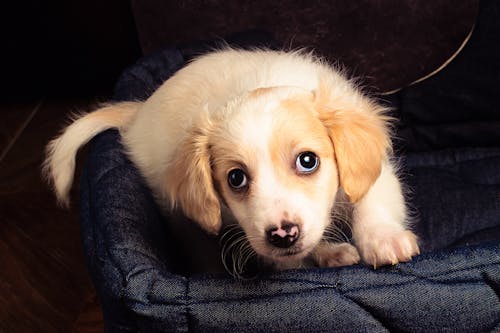
<instances>
[{"instance_id":1,"label":"larger pale paw at the end of the puppy's outstretched front leg","mask_svg":"<svg viewBox=\"0 0 500 333\"><path fill-rule=\"evenodd\" d=\"M374 268L410 261L420 254L417 237L409 230L393 231L379 228L358 240L363 261Z\"/></svg>"}]
</instances>

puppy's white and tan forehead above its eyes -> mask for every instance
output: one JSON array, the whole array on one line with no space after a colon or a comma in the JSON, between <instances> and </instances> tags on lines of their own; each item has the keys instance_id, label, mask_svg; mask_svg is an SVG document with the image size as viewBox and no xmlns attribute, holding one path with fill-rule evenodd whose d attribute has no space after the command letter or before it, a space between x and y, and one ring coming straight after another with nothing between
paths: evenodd
<instances>
[{"instance_id":1,"label":"puppy's white and tan forehead above its eyes","mask_svg":"<svg viewBox=\"0 0 500 333\"><path fill-rule=\"evenodd\" d=\"M258 89L233 105L224 131L235 153L284 152L296 149L325 153L332 149L326 128L316 115L312 94L275 94L272 88ZM273 158L274 159L274 158Z\"/></svg>"}]
</instances>

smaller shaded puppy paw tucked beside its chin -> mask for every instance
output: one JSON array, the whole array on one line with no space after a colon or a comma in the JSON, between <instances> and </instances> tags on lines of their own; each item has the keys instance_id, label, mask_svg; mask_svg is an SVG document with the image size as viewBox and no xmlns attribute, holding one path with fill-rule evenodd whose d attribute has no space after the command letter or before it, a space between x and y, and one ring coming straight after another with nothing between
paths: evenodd
<instances>
[{"instance_id":1,"label":"smaller shaded puppy paw tucked beside its chin","mask_svg":"<svg viewBox=\"0 0 500 333\"><path fill-rule=\"evenodd\" d=\"M319 267L340 267L359 263L358 250L349 243L321 243L312 253Z\"/></svg>"}]
</instances>

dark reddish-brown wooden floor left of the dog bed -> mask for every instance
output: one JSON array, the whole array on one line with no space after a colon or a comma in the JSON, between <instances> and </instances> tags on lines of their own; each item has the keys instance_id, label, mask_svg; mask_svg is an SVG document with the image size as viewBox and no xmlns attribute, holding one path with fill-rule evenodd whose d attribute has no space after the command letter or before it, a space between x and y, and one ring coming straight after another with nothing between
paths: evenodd
<instances>
[{"instance_id":1,"label":"dark reddish-brown wooden floor left of the dog bed","mask_svg":"<svg viewBox=\"0 0 500 333\"><path fill-rule=\"evenodd\" d=\"M0 332L102 332L86 271L78 191L70 210L40 177L44 146L70 112L95 101L0 104Z\"/></svg>"}]
</instances>

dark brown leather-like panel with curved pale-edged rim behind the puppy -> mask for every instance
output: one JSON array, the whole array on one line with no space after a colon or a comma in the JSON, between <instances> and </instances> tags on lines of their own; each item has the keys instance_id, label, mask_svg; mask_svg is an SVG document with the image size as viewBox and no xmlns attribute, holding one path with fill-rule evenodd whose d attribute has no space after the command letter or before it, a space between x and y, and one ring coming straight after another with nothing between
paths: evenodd
<instances>
[{"instance_id":1,"label":"dark brown leather-like panel with curved pale-edged rim behind the puppy","mask_svg":"<svg viewBox=\"0 0 500 333\"><path fill-rule=\"evenodd\" d=\"M145 53L248 29L271 32L285 49L308 47L378 92L440 67L463 43L478 0L132 0Z\"/></svg>"}]
</instances>

